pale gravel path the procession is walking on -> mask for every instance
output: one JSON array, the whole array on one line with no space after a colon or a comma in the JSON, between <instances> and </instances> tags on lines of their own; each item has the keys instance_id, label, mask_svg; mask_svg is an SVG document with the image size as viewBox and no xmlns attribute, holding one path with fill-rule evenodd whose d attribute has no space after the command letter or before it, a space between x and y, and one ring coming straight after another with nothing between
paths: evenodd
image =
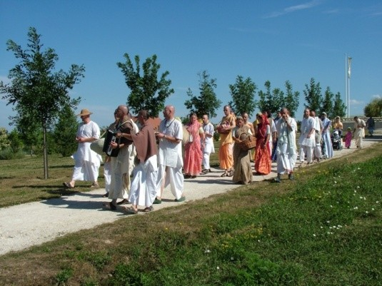
<instances>
[{"instance_id":1,"label":"pale gravel path the procession is walking on","mask_svg":"<svg viewBox=\"0 0 382 286\"><path fill-rule=\"evenodd\" d=\"M376 141L364 141L364 147ZM334 151L334 158L353 152L354 148ZM196 179L185 180L184 194L186 201L207 198L210 195L225 193L237 188L231 178L221 178L219 169L212 169L207 175ZM253 180L259 181L276 176L276 164L272 164L273 172L269 175L256 175ZM121 211L110 211L103 207L108 202L102 198L104 189L92 190L88 193L75 193L61 198L42 200L40 202L15 205L0 209L0 255L7 252L24 250L32 245L40 245L54 240L67 233L94 228L103 223L112 223L121 218L127 218ZM155 210L170 207L174 202L169 188L164 191L161 205L154 205ZM142 207L140 209L143 209ZM139 212L139 215L144 213ZM129 215L129 218L134 215Z\"/></svg>"}]
</instances>

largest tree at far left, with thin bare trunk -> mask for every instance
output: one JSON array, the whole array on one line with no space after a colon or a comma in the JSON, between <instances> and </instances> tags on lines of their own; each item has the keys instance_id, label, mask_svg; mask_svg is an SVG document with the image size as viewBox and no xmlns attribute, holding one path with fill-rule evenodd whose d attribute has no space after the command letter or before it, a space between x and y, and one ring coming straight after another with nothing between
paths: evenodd
<instances>
[{"instance_id":1,"label":"largest tree at far left, with thin bare trunk","mask_svg":"<svg viewBox=\"0 0 382 286\"><path fill-rule=\"evenodd\" d=\"M46 131L54 118L64 106L75 107L80 98L72 99L69 90L84 77L84 66L71 65L68 72L54 71L59 56L53 48L42 51L41 35L35 28L29 28L28 44L22 49L14 41L7 41L7 51L13 51L19 63L9 71L11 83L0 82L0 93L5 94L3 99L13 104L16 116L12 123L16 125L27 116L29 120L39 123L43 133L44 150L44 178L48 174L48 153L46 144Z\"/></svg>"}]
</instances>

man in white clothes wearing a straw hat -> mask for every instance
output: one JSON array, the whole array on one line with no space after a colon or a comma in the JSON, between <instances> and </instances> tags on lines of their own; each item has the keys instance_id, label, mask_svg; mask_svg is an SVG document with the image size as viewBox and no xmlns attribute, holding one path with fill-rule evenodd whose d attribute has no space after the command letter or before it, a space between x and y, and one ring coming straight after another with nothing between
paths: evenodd
<instances>
[{"instance_id":1,"label":"man in white clothes wearing a straw hat","mask_svg":"<svg viewBox=\"0 0 382 286\"><path fill-rule=\"evenodd\" d=\"M82 123L76 133L76 141L79 143L76 153L72 155L74 158L74 171L70 182L63 183L65 188L74 188L76 180L89 180L93 182L91 188L99 188L98 175L99 166L101 165L101 155L91 150L90 144L99 139L99 126L91 121L91 113L84 108L77 116L81 117Z\"/></svg>"}]
</instances>

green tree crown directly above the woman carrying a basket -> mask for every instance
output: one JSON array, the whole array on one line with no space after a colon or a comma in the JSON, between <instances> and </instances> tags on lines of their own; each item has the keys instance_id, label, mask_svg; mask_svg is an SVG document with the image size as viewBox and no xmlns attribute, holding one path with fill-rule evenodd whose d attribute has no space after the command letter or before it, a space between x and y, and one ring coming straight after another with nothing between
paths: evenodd
<instances>
[{"instance_id":1,"label":"green tree crown directly above the woman carrying a basket","mask_svg":"<svg viewBox=\"0 0 382 286\"><path fill-rule=\"evenodd\" d=\"M232 101L229 103L231 108L240 115L243 113L252 114L256 108L255 93L257 86L251 78L243 79L237 76L236 82L229 85Z\"/></svg>"}]
</instances>

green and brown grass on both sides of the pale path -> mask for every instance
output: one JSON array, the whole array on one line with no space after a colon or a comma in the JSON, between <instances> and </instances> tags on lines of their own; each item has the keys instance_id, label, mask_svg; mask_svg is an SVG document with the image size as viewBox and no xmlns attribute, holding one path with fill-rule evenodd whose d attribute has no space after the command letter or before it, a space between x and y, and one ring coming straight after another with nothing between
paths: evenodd
<instances>
[{"instance_id":1,"label":"green and brown grass on both sides of the pale path","mask_svg":"<svg viewBox=\"0 0 382 286\"><path fill-rule=\"evenodd\" d=\"M59 195L71 162L60 159L44 183L26 161L14 191ZM12 175L2 176L1 195ZM379 143L297 170L293 182L254 183L3 255L0 285L382 285L381 183Z\"/></svg>"}]
</instances>

